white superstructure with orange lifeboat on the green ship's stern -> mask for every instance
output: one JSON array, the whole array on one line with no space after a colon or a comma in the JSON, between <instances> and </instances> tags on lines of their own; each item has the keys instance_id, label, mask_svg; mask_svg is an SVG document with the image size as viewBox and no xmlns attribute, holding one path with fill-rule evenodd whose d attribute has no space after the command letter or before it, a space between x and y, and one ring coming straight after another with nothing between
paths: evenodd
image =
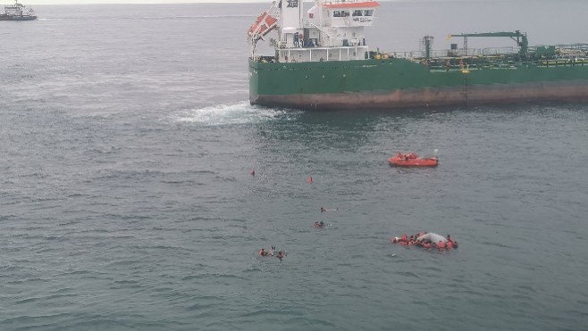
<instances>
[{"instance_id":1,"label":"white superstructure with orange lifeboat on the green ship's stern","mask_svg":"<svg viewBox=\"0 0 588 331\"><path fill-rule=\"evenodd\" d=\"M255 57L256 42L276 30L278 36L272 42L278 62L364 59L368 52L364 29L372 25L378 5L375 1L315 0L305 12L300 0L277 0L248 31L251 57ZM262 16L277 21L270 28L265 19L260 20Z\"/></svg>"}]
</instances>

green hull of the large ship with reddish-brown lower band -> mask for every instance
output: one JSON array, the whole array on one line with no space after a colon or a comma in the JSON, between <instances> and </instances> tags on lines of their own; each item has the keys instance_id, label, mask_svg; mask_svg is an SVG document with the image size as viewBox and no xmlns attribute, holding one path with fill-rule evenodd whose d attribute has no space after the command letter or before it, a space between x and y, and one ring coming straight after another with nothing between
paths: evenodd
<instances>
[{"instance_id":1,"label":"green hull of the large ship with reddish-brown lower band","mask_svg":"<svg viewBox=\"0 0 588 331\"><path fill-rule=\"evenodd\" d=\"M252 104L312 110L588 102L588 59L428 67L402 58L249 59Z\"/></svg>"}]
</instances>

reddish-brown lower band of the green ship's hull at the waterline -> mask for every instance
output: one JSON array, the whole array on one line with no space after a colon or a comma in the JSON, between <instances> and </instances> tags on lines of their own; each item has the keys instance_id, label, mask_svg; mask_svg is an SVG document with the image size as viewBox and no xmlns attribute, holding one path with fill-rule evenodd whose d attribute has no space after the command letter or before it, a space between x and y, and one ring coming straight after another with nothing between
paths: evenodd
<instances>
[{"instance_id":1,"label":"reddish-brown lower band of the green ship's hull at the waterline","mask_svg":"<svg viewBox=\"0 0 588 331\"><path fill-rule=\"evenodd\" d=\"M588 103L588 83L497 84L491 87L471 87L467 92L456 87L426 87L329 94L255 95L250 100L251 104L267 107L309 110L401 109L541 102Z\"/></svg>"}]
</instances>

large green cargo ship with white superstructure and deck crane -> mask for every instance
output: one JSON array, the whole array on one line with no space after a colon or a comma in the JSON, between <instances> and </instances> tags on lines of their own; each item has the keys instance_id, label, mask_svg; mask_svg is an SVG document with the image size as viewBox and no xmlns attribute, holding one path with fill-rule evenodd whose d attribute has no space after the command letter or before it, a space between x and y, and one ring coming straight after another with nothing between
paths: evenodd
<instances>
[{"instance_id":1,"label":"large green cargo ship with white superstructure and deck crane","mask_svg":"<svg viewBox=\"0 0 588 331\"><path fill-rule=\"evenodd\" d=\"M365 40L379 3L276 0L248 29L249 101L310 110L588 102L588 44L529 46L525 32L449 34L463 45L384 52ZM449 31L450 32L450 31ZM468 38L512 46L472 49ZM265 40L274 54L256 54Z\"/></svg>"}]
</instances>

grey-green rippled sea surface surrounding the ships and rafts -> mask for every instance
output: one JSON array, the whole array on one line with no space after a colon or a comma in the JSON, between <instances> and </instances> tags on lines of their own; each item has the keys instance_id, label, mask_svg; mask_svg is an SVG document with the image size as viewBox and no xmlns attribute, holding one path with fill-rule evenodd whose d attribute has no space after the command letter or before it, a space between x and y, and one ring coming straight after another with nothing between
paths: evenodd
<instances>
[{"instance_id":1,"label":"grey-green rippled sea surface surrounding the ships and rafts","mask_svg":"<svg viewBox=\"0 0 588 331\"><path fill-rule=\"evenodd\" d=\"M253 107L245 31L268 6L0 22L0 329L586 329L588 105ZM382 2L368 42L587 42L585 12ZM435 169L387 163L433 149ZM460 246L390 243L418 231Z\"/></svg>"}]
</instances>

